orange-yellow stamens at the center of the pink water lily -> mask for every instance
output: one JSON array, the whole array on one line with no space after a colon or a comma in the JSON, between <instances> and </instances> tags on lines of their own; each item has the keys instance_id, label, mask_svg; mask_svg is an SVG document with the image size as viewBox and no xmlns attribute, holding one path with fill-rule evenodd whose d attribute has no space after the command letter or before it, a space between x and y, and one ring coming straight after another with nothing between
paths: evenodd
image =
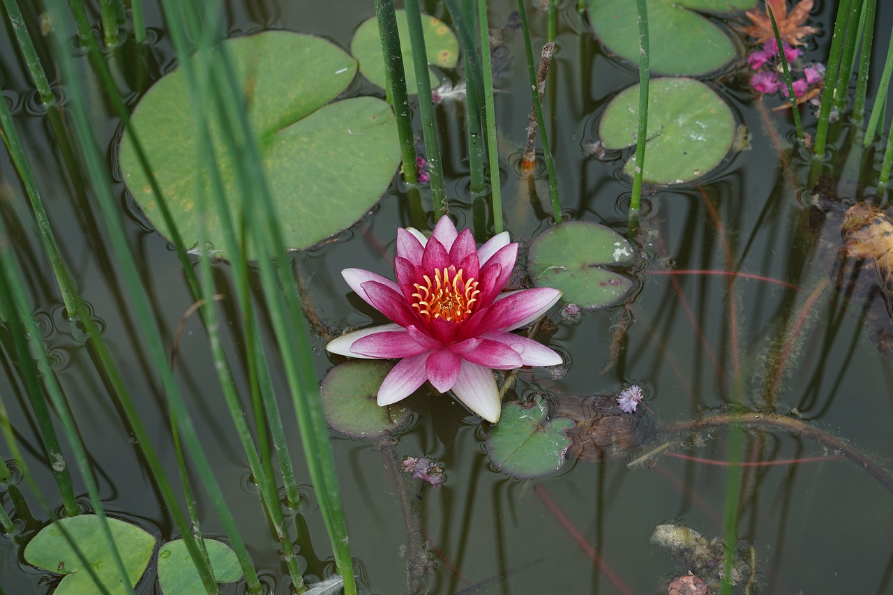
<instances>
[{"instance_id":1,"label":"orange-yellow stamens at the center of the pink water lily","mask_svg":"<svg viewBox=\"0 0 893 595\"><path fill-rule=\"evenodd\" d=\"M428 322L441 318L451 323L461 323L468 318L472 314L472 305L478 301L476 296L480 290L478 281L463 281L462 272L462 269L456 271L452 266L435 269L434 281L424 275L424 285L413 283L416 289L416 293L413 293L415 311Z\"/></svg>"}]
</instances>

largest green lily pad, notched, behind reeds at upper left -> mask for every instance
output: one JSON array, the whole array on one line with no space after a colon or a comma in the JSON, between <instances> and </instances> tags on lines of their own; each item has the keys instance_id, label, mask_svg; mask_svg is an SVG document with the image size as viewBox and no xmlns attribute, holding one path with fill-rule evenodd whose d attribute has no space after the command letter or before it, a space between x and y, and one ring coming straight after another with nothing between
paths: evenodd
<instances>
[{"instance_id":1,"label":"largest green lily pad, notched, behind reeds at upper left","mask_svg":"<svg viewBox=\"0 0 893 595\"><path fill-rule=\"evenodd\" d=\"M388 104L374 97L329 103L354 79L355 60L325 39L288 31L229 39L223 46L246 92L246 115L284 222L287 246L311 247L368 213L388 188L400 155ZM214 59L219 55L213 54ZM196 58L190 60L197 67ZM203 168L188 89L183 69L171 72L140 100L132 122L184 242L196 246L204 225L206 240L221 249L211 183L206 174L197 173ZM204 112L217 113L210 104ZM230 124L238 130L235 116ZM211 128L214 155L238 226L242 205L252 204L254 197L239 196L234 157L221 138L219 122ZM129 135L121 142L121 172L155 228L171 238ZM207 197L204 222L196 216L200 196Z\"/></svg>"}]
</instances>

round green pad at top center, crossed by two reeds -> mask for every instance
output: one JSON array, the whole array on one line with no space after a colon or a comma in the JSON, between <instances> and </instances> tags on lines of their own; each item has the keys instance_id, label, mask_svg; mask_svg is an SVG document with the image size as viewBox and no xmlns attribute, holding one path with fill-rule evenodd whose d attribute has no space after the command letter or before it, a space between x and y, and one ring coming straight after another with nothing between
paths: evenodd
<instances>
[{"instance_id":1,"label":"round green pad at top center, crossed by two reeds","mask_svg":"<svg viewBox=\"0 0 893 595\"><path fill-rule=\"evenodd\" d=\"M406 73L406 90L415 95L415 67L413 66L413 48L409 44L409 26L406 24L405 11L396 11L396 29L400 34L400 49L403 51L403 70ZM425 54L428 63L440 68L455 68L459 60L459 41L444 21L435 19L429 14L421 15L421 31L425 36ZM363 21L356 29L350 42L350 53L360 61L360 72L373 84L385 87L385 61L381 56L381 40L379 23L375 17ZM437 75L429 72L431 87L437 87L440 81Z\"/></svg>"}]
</instances>

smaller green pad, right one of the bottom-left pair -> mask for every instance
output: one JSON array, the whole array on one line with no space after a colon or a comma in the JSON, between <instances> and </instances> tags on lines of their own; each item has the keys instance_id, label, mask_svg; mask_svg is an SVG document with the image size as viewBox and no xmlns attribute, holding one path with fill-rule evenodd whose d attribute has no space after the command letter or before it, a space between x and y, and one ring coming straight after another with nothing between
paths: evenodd
<instances>
[{"instance_id":1,"label":"smaller green pad, right one of the bottom-left pair","mask_svg":"<svg viewBox=\"0 0 893 595\"><path fill-rule=\"evenodd\" d=\"M236 582L242 578L242 567L230 546L222 541L204 540L211 568L217 582ZM158 582L164 595L204 593L202 577L189 556L186 542L168 541L158 551Z\"/></svg>"}]
</instances>

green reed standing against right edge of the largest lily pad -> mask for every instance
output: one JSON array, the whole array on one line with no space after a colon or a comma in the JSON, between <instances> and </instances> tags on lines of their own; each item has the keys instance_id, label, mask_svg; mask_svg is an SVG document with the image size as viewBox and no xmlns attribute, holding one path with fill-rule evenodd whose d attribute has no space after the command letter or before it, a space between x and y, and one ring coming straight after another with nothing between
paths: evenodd
<instances>
[{"instance_id":1,"label":"green reed standing against right edge of the largest lily pad","mask_svg":"<svg viewBox=\"0 0 893 595\"><path fill-rule=\"evenodd\" d=\"M419 179L419 166L413 135L413 111L409 107L409 94L406 91L406 72L400 34L396 27L394 0L375 0L375 16L379 22L381 54L385 61L388 101L394 108L396 134L400 141L400 154L403 155L403 177L407 183L414 184Z\"/></svg>"}]
</instances>

